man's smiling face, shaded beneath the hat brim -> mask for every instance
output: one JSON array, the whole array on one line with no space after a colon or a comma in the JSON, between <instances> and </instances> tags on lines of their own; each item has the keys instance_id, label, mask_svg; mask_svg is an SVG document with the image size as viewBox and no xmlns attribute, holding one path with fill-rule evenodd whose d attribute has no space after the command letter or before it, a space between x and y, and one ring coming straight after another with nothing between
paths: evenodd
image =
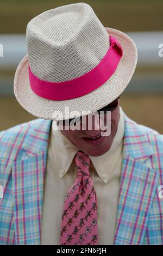
<instances>
[{"instance_id":1,"label":"man's smiling face, shaded beneath the hat brim","mask_svg":"<svg viewBox=\"0 0 163 256\"><path fill-rule=\"evenodd\" d=\"M87 117L80 121L81 125L85 125L85 130L61 130L61 132L66 136L66 138L69 139L69 141L75 145L79 150L82 150L85 154L90 156L100 156L106 153L112 145L112 142L114 140L114 137L116 135L118 121L120 118L120 97L110 103L108 106L106 106L107 109L110 109L110 106L112 107L111 116L110 116L110 135L109 136L100 136L98 137L101 132L104 132L104 130L101 130L101 123L96 121L96 119L92 119L92 129L89 130L87 126ZM106 113L104 114L104 123L106 121ZM100 115L99 115L100 118ZM85 124L84 121L85 120ZM106 123L105 123L106 125ZM64 127L64 125L63 125ZM81 126L82 127L82 126ZM98 137L95 139L95 137ZM94 138L94 139L92 139Z\"/></svg>"}]
</instances>

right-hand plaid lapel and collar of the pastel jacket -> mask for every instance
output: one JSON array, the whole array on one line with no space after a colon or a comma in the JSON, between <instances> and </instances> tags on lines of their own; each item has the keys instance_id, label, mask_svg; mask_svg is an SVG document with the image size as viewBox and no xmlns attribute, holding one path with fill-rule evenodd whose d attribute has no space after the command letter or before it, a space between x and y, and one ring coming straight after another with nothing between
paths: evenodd
<instances>
[{"instance_id":1,"label":"right-hand plaid lapel and collar of the pastel jacket","mask_svg":"<svg viewBox=\"0 0 163 256\"><path fill-rule=\"evenodd\" d=\"M141 129L125 113L124 120L122 174L114 243L141 245L159 175L145 163L153 151L143 127Z\"/></svg>"}]
</instances>

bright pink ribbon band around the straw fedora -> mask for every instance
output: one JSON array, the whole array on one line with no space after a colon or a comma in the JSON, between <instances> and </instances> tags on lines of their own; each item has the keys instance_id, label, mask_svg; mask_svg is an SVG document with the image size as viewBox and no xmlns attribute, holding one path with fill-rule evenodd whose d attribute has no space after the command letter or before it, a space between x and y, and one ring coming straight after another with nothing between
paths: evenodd
<instances>
[{"instance_id":1,"label":"bright pink ribbon band around the straw fedora","mask_svg":"<svg viewBox=\"0 0 163 256\"><path fill-rule=\"evenodd\" d=\"M33 92L48 100L70 100L88 94L102 86L114 74L123 55L120 43L111 35L109 35L109 39L109 50L101 62L83 76L70 81L43 81L33 74L28 65L29 82Z\"/></svg>"}]
</instances>

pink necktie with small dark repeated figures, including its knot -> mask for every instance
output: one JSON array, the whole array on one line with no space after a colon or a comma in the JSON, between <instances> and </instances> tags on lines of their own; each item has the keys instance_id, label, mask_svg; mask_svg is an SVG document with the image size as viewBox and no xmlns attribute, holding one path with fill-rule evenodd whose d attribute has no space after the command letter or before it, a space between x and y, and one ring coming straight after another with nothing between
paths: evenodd
<instances>
[{"instance_id":1,"label":"pink necktie with small dark repeated figures, including its knot","mask_svg":"<svg viewBox=\"0 0 163 256\"><path fill-rule=\"evenodd\" d=\"M89 167L90 158L82 151L74 157L78 175L70 187L61 220L61 245L98 245L97 199Z\"/></svg>"}]
</instances>

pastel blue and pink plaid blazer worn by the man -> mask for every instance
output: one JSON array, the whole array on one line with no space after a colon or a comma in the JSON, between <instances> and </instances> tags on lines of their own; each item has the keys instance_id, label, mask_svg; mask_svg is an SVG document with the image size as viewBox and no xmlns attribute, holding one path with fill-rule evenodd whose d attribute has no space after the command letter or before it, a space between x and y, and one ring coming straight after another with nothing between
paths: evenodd
<instances>
[{"instance_id":1,"label":"pastel blue and pink plaid blazer worn by the man","mask_svg":"<svg viewBox=\"0 0 163 256\"><path fill-rule=\"evenodd\" d=\"M124 113L124 112L123 112ZM115 245L162 245L163 135L124 113ZM35 119L0 133L0 245L40 245L49 131ZM108 227L109 228L109 227Z\"/></svg>"}]
</instances>

